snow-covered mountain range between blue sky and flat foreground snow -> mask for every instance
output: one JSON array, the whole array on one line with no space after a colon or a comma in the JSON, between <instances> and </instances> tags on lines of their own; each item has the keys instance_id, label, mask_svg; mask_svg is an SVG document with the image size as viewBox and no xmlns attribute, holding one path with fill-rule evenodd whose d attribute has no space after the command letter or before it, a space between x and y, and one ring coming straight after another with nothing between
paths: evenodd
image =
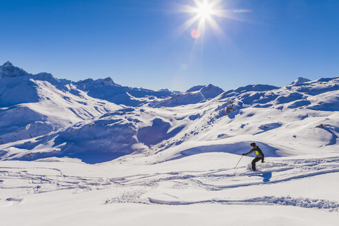
<instances>
[{"instance_id":1,"label":"snow-covered mountain range between blue sky and flat foreground snow","mask_svg":"<svg viewBox=\"0 0 339 226\"><path fill-rule=\"evenodd\" d=\"M154 91L111 78L74 82L29 74L6 62L0 66L0 159L101 163L153 154L159 162L201 152L207 143L220 151L247 141L262 142L272 156L332 148L339 136L338 90L336 77L298 78L283 88Z\"/></svg>"}]
</instances>

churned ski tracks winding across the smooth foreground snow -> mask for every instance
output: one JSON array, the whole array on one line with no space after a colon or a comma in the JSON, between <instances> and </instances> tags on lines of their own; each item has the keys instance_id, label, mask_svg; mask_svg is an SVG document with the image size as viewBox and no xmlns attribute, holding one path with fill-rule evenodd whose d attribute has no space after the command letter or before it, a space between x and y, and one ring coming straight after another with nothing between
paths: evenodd
<instances>
[{"instance_id":1,"label":"churned ski tracks winding across the smooth foreground snow","mask_svg":"<svg viewBox=\"0 0 339 226\"><path fill-rule=\"evenodd\" d=\"M39 174L34 174L39 170ZM24 189L25 194L17 197L0 198L8 205L19 204L25 195L72 189L74 194L94 189L123 188L123 193L103 201L110 203L144 203L162 205L192 205L198 203L219 203L225 205L290 205L295 207L327 209L338 211L339 203L309 198L292 198L289 196L263 196L243 200L208 199L203 201L161 201L152 198L152 189L159 183L172 183L171 189L194 187L206 191L220 191L236 187L284 183L286 181L339 172L339 157L315 158L306 160L286 160L279 163L258 164L258 172L251 172L247 167L207 170L181 171L155 174L137 174L132 176L104 178L68 176L56 168L48 167L0 167L0 189ZM240 172L237 172L240 171ZM42 173L43 172L43 173ZM272 176L273 175L273 176ZM20 183L11 183L11 181ZM249 181L244 183L242 181ZM214 184L217 183L217 184ZM220 185L225 183L225 185ZM12 184L12 185L11 185ZM178 197L165 194L171 198Z\"/></svg>"}]
</instances>

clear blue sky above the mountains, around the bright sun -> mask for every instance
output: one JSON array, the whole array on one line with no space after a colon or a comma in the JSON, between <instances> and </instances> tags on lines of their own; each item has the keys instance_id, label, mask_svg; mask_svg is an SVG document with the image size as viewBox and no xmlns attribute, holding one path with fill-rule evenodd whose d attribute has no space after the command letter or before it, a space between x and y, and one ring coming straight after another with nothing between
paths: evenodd
<instances>
[{"instance_id":1,"label":"clear blue sky above the mountains, around the bright sun","mask_svg":"<svg viewBox=\"0 0 339 226\"><path fill-rule=\"evenodd\" d=\"M78 81L187 90L339 76L338 0L224 0L203 36L193 0L0 0L0 65Z\"/></svg>"}]
</instances>

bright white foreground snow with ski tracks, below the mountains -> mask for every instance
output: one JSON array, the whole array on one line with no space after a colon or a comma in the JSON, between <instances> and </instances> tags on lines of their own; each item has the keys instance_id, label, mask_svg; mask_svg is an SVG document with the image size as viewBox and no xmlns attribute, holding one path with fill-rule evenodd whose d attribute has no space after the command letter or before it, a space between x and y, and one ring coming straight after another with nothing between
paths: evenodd
<instances>
[{"instance_id":1,"label":"bright white foreground snow with ski tracks, below the mountains","mask_svg":"<svg viewBox=\"0 0 339 226\"><path fill-rule=\"evenodd\" d=\"M165 225L338 223L338 157L269 158L288 165L262 168L265 163L258 163L260 171L254 173L246 170L249 157L234 170L232 154L200 155L156 165L3 161L0 222L158 225L168 218Z\"/></svg>"}]
</instances>

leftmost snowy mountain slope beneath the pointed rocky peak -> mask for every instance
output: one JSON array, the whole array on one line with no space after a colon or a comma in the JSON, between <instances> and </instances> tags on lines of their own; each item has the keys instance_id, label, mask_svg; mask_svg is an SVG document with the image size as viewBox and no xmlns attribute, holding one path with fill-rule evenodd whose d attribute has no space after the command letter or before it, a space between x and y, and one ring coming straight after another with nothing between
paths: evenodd
<instances>
[{"instance_id":1,"label":"leftmost snowy mountain slope beneath the pointed rocky peak","mask_svg":"<svg viewBox=\"0 0 339 226\"><path fill-rule=\"evenodd\" d=\"M0 71L6 71L0 79L0 143L45 135L121 108L52 74L28 74L10 63Z\"/></svg>"}]
</instances>

